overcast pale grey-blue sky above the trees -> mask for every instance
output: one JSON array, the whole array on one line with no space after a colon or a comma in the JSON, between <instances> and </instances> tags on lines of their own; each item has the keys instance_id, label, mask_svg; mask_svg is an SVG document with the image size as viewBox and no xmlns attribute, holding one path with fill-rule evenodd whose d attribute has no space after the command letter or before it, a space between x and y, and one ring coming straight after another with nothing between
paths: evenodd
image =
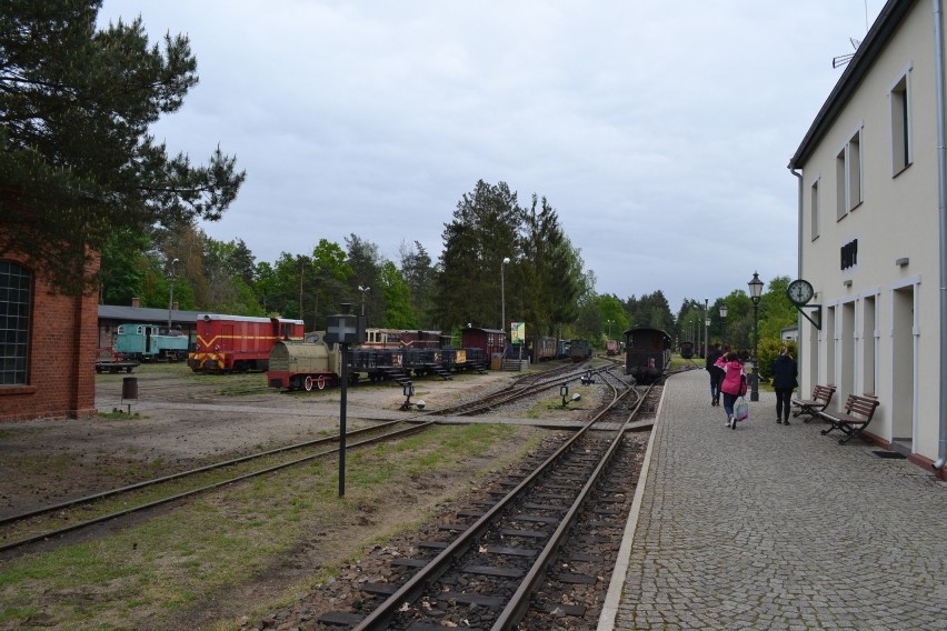
<instances>
[{"instance_id":1,"label":"overcast pale grey-blue sky above the trees","mask_svg":"<svg viewBox=\"0 0 947 631\"><path fill-rule=\"evenodd\" d=\"M186 33L200 83L154 129L247 170L212 238L257 261L356 233L433 260L477 180L546 197L599 293L671 311L796 278L787 170L883 0L106 0ZM504 243L497 243L502 250ZM499 274L499 270L498 270Z\"/></svg>"}]
</instances>

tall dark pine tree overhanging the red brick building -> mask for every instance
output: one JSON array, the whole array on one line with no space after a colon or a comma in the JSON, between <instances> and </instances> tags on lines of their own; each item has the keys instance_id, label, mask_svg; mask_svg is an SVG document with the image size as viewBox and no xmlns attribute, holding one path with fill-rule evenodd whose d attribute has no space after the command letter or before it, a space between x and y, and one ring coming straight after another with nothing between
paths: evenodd
<instances>
[{"instance_id":1,"label":"tall dark pine tree overhanging the red brick building","mask_svg":"<svg viewBox=\"0 0 947 631\"><path fill-rule=\"evenodd\" d=\"M185 36L149 44L141 20L96 30L100 0L8 0L0 11L0 254L63 291L94 286L90 249L117 230L217 220L245 179L220 149L169 157L149 126L197 82Z\"/></svg>"}]
</instances>

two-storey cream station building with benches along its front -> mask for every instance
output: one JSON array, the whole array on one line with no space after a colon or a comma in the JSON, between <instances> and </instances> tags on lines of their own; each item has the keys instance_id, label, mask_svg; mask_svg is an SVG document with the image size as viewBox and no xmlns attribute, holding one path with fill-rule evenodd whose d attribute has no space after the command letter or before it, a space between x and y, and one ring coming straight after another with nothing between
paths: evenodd
<instances>
[{"instance_id":1,"label":"two-storey cream station building with benches along its front","mask_svg":"<svg viewBox=\"0 0 947 631\"><path fill-rule=\"evenodd\" d=\"M803 313L821 320L799 319L800 390L877 397L866 432L941 478L944 33L941 0L889 0L789 162L799 278L816 292Z\"/></svg>"}]
</instances>

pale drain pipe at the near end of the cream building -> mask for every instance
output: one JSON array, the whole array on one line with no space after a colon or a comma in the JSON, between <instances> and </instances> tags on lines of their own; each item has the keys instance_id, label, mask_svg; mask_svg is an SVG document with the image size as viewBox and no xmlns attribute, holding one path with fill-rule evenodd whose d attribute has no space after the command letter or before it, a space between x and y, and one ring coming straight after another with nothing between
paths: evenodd
<instances>
[{"instance_id":1,"label":"pale drain pipe at the near end of the cream building","mask_svg":"<svg viewBox=\"0 0 947 631\"><path fill-rule=\"evenodd\" d=\"M944 30L940 0L934 2L934 60L937 82L937 216L940 220L940 442L937 471L947 463L947 139L944 119Z\"/></svg>"}]
</instances>

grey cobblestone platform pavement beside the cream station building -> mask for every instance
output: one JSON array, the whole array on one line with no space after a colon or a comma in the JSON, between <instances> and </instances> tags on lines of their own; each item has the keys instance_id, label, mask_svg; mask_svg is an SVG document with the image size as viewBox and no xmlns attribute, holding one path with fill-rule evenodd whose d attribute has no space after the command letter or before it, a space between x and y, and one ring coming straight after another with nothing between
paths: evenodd
<instances>
[{"instance_id":1,"label":"grey cobblestone platform pavement beside the cream station building","mask_svg":"<svg viewBox=\"0 0 947 631\"><path fill-rule=\"evenodd\" d=\"M729 430L705 371L669 380L600 630L947 629L947 484L775 400Z\"/></svg>"}]
</instances>

